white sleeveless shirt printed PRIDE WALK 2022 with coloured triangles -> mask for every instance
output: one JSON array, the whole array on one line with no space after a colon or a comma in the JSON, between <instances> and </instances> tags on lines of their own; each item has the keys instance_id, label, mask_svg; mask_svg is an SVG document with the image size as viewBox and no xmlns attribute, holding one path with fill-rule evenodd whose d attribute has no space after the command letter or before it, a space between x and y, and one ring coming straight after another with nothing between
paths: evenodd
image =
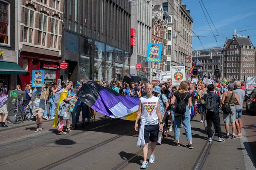
<instances>
[{"instance_id":1,"label":"white sleeveless shirt printed PRIDE WALK 2022 with coloured triangles","mask_svg":"<svg viewBox=\"0 0 256 170\"><path fill-rule=\"evenodd\" d=\"M145 125L155 125L158 124L158 117L157 117L157 104L158 98L152 96L151 98L147 98L143 96L140 98L142 104L142 111L141 111L141 121L145 123Z\"/></svg>"}]
</instances>

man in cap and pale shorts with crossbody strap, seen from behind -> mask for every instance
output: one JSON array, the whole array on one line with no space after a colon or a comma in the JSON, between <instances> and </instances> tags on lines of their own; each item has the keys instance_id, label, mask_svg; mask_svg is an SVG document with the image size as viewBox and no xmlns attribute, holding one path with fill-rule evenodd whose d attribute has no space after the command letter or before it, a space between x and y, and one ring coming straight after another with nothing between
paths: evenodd
<instances>
[{"instance_id":1,"label":"man in cap and pale shorts with crossbody strap, seen from behind","mask_svg":"<svg viewBox=\"0 0 256 170\"><path fill-rule=\"evenodd\" d=\"M228 91L223 93L223 97L221 100L221 104L226 104L226 105L230 105L230 109L231 112L230 113L224 113L223 112L223 119L224 119L224 124L225 124L225 128L226 128L226 138L230 139L230 135L229 135L229 121L232 124L232 139L236 138L235 135L235 130L236 130L236 107L235 105L240 105L240 101L239 101L239 97L236 93L233 92L234 89L234 85L233 84L229 84L227 86ZM230 100L231 98L231 100ZM229 103L230 101L230 103Z\"/></svg>"}]
</instances>

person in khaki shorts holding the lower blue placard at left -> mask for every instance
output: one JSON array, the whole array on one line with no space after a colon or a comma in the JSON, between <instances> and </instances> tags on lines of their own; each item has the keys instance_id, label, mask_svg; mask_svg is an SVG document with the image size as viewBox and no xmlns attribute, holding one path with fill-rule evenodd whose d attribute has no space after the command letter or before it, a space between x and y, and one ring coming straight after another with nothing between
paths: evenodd
<instances>
[{"instance_id":1,"label":"person in khaki shorts holding the lower blue placard at left","mask_svg":"<svg viewBox=\"0 0 256 170\"><path fill-rule=\"evenodd\" d=\"M43 121L43 115L44 115L44 109L45 109L45 100L41 100L41 87L36 87L36 90L32 93L32 98L29 101L29 104L26 106L26 109L30 107L30 105L33 103L32 107L32 114L36 118L36 126L37 129L35 132L41 132L42 131L42 121Z\"/></svg>"}]
</instances>

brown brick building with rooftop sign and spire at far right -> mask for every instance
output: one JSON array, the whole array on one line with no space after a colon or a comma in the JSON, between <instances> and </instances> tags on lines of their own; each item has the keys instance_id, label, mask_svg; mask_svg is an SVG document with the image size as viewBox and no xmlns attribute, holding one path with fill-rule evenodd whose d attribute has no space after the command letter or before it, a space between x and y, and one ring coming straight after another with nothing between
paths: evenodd
<instances>
[{"instance_id":1,"label":"brown brick building with rooftop sign and spire at far right","mask_svg":"<svg viewBox=\"0 0 256 170\"><path fill-rule=\"evenodd\" d=\"M247 77L255 76L255 47L250 37L237 35L227 39L224 44L224 77L245 81Z\"/></svg>"}]
</instances>

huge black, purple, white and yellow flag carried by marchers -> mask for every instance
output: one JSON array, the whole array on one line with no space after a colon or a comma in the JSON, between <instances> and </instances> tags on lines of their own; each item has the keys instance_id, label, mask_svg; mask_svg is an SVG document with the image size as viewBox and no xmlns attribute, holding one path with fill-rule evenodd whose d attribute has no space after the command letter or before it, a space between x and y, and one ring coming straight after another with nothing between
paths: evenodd
<instances>
[{"instance_id":1,"label":"huge black, purple, white and yellow flag carried by marchers","mask_svg":"<svg viewBox=\"0 0 256 170\"><path fill-rule=\"evenodd\" d=\"M93 81L84 84L77 97L87 106L111 118L135 121L139 98L124 96Z\"/></svg>"}]
</instances>

